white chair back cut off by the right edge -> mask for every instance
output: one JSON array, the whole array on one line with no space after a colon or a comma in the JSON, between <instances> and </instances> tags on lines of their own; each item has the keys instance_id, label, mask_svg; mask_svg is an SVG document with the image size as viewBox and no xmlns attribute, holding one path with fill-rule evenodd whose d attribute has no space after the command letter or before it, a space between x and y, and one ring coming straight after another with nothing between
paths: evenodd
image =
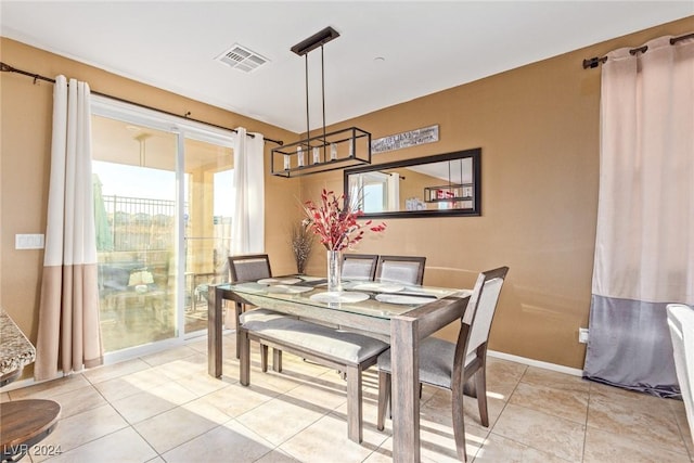
<instances>
[{"instance_id":1,"label":"white chair back cut off by the right edge","mask_svg":"<svg viewBox=\"0 0 694 463\"><path fill-rule=\"evenodd\" d=\"M668 304L667 312L677 381L694 441L694 308L684 304Z\"/></svg>"}]
</instances>

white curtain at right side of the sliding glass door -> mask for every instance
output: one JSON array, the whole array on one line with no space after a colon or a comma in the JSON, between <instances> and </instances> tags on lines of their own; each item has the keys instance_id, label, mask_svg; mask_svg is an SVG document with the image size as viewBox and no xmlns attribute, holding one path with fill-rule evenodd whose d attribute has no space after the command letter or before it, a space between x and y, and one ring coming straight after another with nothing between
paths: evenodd
<instances>
[{"instance_id":1,"label":"white curtain at right side of the sliding glass door","mask_svg":"<svg viewBox=\"0 0 694 463\"><path fill-rule=\"evenodd\" d=\"M248 137L236 129L234 138L235 203L231 254L265 253L265 142L260 133Z\"/></svg>"}]
</instances>

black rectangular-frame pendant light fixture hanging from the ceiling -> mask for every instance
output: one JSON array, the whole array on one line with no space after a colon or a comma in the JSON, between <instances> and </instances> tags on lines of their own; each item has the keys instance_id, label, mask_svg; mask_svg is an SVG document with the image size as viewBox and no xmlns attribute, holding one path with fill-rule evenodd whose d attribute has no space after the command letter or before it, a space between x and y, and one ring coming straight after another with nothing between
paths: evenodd
<instances>
[{"instance_id":1,"label":"black rectangular-frame pendant light fixture hanging from the ceiling","mask_svg":"<svg viewBox=\"0 0 694 463\"><path fill-rule=\"evenodd\" d=\"M305 57L306 63L306 138L272 150L270 171L280 177L300 177L361 164L371 164L371 133L349 127L326 133L325 131L325 66L323 46L339 37L339 33L326 27L320 33L292 47L292 51ZM308 53L321 49L321 98L323 103L322 131L311 136L309 118Z\"/></svg>"}]
</instances>

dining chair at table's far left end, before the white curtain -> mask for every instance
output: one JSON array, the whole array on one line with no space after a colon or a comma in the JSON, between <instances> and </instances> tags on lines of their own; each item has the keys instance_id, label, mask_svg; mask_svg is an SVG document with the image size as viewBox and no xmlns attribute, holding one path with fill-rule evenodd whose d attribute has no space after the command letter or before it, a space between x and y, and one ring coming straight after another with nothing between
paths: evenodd
<instances>
[{"instance_id":1,"label":"dining chair at table's far left end, before the white curtain","mask_svg":"<svg viewBox=\"0 0 694 463\"><path fill-rule=\"evenodd\" d=\"M256 282L266 278L272 278L272 270L270 268L270 257L267 254L246 254L229 256L229 273L232 283ZM239 327L241 326L241 314L246 311L247 308L244 304L235 303L235 321L236 321L236 358L241 358L241 338L239 336ZM268 312L277 313L269 309L257 308L253 310L254 314L246 317L246 320L255 316L261 316ZM262 371L267 371L267 348L261 349ZM281 369L282 365L282 352L274 350L273 364Z\"/></svg>"}]
</instances>

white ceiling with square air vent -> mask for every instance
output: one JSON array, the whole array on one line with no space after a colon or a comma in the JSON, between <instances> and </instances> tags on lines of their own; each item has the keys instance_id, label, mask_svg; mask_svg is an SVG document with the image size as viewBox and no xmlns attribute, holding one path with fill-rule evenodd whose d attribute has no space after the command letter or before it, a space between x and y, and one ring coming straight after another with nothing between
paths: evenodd
<instances>
[{"instance_id":1,"label":"white ceiling with square air vent","mask_svg":"<svg viewBox=\"0 0 694 463\"><path fill-rule=\"evenodd\" d=\"M303 132L305 59L290 48L326 26L340 34L324 46L325 123L330 125L692 15L692 0L2 0L0 33ZM244 73L216 60L235 43L269 62ZM310 126L316 128L322 124L320 50L308 59ZM92 88L100 90L98 83Z\"/></svg>"}]
</instances>

